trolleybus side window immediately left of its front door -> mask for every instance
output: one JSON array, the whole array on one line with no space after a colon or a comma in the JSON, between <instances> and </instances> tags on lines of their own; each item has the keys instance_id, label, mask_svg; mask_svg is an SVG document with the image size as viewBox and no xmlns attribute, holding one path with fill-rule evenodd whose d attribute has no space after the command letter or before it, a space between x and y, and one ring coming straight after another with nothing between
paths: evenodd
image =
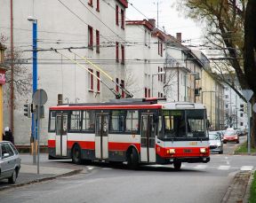
<instances>
[{"instance_id":1,"label":"trolleybus side window immediately left of its front door","mask_svg":"<svg viewBox=\"0 0 256 203\"><path fill-rule=\"evenodd\" d=\"M126 132L134 132L139 129L139 112L138 110L129 110L126 115Z\"/></svg>"}]
</instances>

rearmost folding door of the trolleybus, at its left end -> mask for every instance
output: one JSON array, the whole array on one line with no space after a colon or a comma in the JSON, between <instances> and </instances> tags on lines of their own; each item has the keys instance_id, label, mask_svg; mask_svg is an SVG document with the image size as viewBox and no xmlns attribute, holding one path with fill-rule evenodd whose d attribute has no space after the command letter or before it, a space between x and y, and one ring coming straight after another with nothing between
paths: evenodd
<instances>
[{"instance_id":1,"label":"rearmost folding door of the trolleybus, at its left end","mask_svg":"<svg viewBox=\"0 0 256 203\"><path fill-rule=\"evenodd\" d=\"M56 155L67 156L68 114L56 115Z\"/></svg>"}]
</instances>

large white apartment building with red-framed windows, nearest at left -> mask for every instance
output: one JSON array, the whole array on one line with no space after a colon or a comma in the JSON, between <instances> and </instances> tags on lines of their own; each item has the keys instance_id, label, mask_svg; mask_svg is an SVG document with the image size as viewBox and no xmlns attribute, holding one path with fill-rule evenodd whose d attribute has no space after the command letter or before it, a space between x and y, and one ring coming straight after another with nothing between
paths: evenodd
<instances>
[{"instance_id":1,"label":"large white apartment building with red-framed windows, nearest at left","mask_svg":"<svg viewBox=\"0 0 256 203\"><path fill-rule=\"evenodd\" d=\"M44 106L42 144L47 144L48 107L57 105L58 94L62 94L63 103L100 102L115 98L92 74L64 56L49 51L51 48L60 49L59 51L68 58L89 68L110 88L120 91L124 96L124 92L97 68L79 59L66 48L74 48L71 51L90 59L118 84L125 85L124 17L127 6L125 0L22 0L13 1L11 16L10 1L1 1L0 33L8 37L4 44L10 48L12 31L14 49L20 52L20 58L25 62L22 66L28 68L28 74L32 71L32 24L28 21L28 16L37 20L37 47L41 50L37 53L37 88L44 89L48 94L48 101ZM17 90L14 92L15 144L29 144L31 132L28 127L31 121L23 115L23 105L31 102L32 89L31 94L25 96L20 96ZM12 126L9 100L9 93L5 91L4 126Z\"/></svg>"}]
</instances>

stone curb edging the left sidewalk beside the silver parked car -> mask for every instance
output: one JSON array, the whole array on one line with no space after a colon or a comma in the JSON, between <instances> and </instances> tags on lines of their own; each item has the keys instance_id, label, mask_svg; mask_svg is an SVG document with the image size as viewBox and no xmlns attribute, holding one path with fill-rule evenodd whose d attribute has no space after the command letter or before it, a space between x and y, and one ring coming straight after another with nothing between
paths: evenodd
<instances>
[{"instance_id":1,"label":"stone curb edging the left sidewalk beside the silver parked car","mask_svg":"<svg viewBox=\"0 0 256 203\"><path fill-rule=\"evenodd\" d=\"M10 185L6 185L4 187L0 187L0 191L12 189L12 188L18 188L18 187L21 187L21 186L24 186L24 185L28 185L28 184L41 183L41 182L45 182L45 181L50 181L50 180L56 179L58 177L73 176L73 175L81 173L82 171L83 171L83 169L76 169L76 170L72 170L72 171L70 171L68 173L65 173L65 174L60 174L60 175L50 176L50 177L42 177L42 178L38 178L38 179L33 180L33 181L29 181L27 183L10 184Z\"/></svg>"}]
</instances>

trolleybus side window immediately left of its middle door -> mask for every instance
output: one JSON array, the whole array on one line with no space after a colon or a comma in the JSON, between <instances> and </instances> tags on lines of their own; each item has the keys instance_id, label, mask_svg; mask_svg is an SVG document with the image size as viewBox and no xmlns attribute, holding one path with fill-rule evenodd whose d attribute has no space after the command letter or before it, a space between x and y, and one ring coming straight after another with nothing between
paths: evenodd
<instances>
[{"instance_id":1,"label":"trolleybus side window immediately left of its middle door","mask_svg":"<svg viewBox=\"0 0 256 203\"><path fill-rule=\"evenodd\" d=\"M83 131L94 132L95 130L95 111L83 111Z\"/></svg>"}]
</instances>

